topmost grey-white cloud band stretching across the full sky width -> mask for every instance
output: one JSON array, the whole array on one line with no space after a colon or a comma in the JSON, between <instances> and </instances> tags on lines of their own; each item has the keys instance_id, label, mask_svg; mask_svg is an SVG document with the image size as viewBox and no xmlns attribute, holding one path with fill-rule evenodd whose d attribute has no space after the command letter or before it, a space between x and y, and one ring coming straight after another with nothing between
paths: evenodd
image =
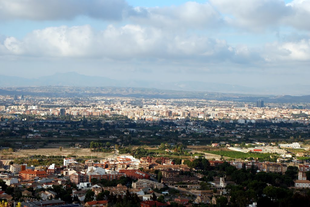
<instances>
[{"instance_id":1,"label":"topmost grey-white cloud band stretching across the full sky width","mask_svg":"<svg viewBox=\"0 0 310 207\"><path fill-rule=\"evenodd\" d=\"M126 21L166 30L238 28L262 32L281 26L309 30L310 1L210 0L185 2L179 6L135 7L125 0L0 0L0 20L63 20L88 16ZM128 22L131 21L131 22Z\"/></svg>"}]
</instances>

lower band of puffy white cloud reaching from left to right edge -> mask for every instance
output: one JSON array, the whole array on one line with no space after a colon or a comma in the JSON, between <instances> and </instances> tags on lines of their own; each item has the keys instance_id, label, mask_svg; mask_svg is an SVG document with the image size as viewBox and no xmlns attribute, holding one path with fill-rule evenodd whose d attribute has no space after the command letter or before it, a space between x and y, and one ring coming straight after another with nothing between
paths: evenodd
<instances>
[{"instance_id":1,"label":"lower band of puffy white cloud reaching from left to right edge","mask_svg":"<svg viewBox=\"0 0 310 207\"><path fill-rule=\"evenodd\" d=\"M204 35L175 34L133 24L118 28L108 25L103 31L84 25L34 30L21 40L7 37L0 51L15 56L263 65L309 61L310 41L303 38L249 48Z\"/></svg>"}]
</instances>

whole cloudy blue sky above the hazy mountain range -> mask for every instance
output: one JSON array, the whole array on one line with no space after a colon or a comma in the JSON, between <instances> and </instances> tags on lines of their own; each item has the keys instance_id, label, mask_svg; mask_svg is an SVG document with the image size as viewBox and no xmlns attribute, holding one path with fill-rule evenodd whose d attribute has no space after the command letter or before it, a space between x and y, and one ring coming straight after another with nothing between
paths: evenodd
<instances>
[{"instance_id":1,"label":"whole cloudy blue sky above the hazy mountain range","mask_svg":"<svg viewBox=\"0 0 310 207\"><path fill-rule=\"evenodd\" d=\"M309 85L309 19L310 0L0 0L0 75Z\"/></svg>"}]
</instances>

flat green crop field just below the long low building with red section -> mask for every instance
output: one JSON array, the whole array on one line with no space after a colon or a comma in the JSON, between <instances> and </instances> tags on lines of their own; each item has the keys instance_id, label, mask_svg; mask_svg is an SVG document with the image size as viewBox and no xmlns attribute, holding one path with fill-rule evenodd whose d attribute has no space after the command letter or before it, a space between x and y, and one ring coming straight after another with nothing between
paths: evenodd
<instances>
[{"instance_id":1,"label":"flat green crop field just below the long low building with red section","mask_svg":"<svg viewBox=\"0 0 310 207\"><path fill-rule=\"evenodd\" d=\"M245 160L249 157L254 157L255 159L269 159L270 155L272 157L274 156L271 153L243 153L243 152L236 152L236 151L204 151L206 153L211 153L211 154L216 154L224 157L231 157L231 158L237 158L237 159L242 159Z\"/></svg>"}]
</instances>

